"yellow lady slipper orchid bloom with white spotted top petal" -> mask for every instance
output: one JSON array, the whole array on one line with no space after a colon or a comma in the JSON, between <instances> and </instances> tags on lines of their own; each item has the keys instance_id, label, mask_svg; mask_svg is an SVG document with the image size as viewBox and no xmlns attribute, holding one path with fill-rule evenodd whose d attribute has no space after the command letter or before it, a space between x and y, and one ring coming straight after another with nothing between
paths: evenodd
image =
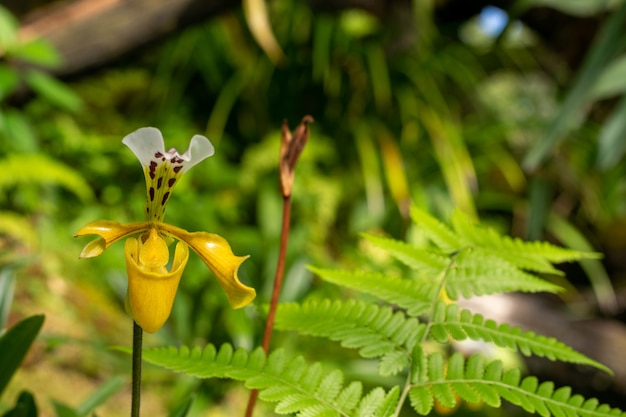
<instances>
[{"instance_id":1,"label":"yellow lady slipper orchid bloom with white spotted top petal","mask_svg":"<svg viewBox=\"0 0 626 417\"><path fill-rule=\"evenodd\" d=\"M216 234L188 232L163 222L172 189L186 171L213 155L211 142L195 135L182 155L175 149L166 152L161 132L145 127L127 135L122 143L133 151L144 169L147 220L128 224L109 220L89 223L75 236L98 235L99 238L85 245L80 257L98 256L115 242L128 238L124 246L128 273L126 304L135 322L149 333L159 330L172 311L189 247L213 272L232 308L248 305L256 292L237 277L237 270L247 256L235 256L228 242ZM178 240L171 262L168 238Z\"/></svg>"}]
</instances>

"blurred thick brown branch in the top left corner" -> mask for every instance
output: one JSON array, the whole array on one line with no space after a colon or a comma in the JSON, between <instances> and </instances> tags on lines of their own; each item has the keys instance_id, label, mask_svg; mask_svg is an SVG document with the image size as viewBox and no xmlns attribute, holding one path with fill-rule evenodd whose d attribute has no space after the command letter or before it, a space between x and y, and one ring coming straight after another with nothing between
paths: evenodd
<instances>
[{"instance_id":1,"label":"blurred thick brown branch in the top left corner","mask_svg":"<svg viewBox=\"0 0 626 417\"><path fill-rule=\"evenodd\" d=\"M51 42L64 59L63 66L53 72L69 75L114 61L239 4L229 0L73 0L25 16L20 36Z\"/></svg>"}]
</instances>

